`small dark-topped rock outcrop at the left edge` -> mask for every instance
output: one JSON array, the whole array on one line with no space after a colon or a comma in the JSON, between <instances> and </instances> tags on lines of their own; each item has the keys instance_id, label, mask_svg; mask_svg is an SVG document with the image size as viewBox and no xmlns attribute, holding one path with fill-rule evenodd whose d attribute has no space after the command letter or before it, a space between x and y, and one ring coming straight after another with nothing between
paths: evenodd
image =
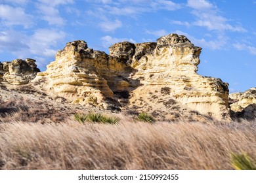
<instances>
[{"instance_id":1,"label":"small dark-topped rock outcrop at the left edge","mask_svg":"<svg viewBox=\"0 0 256 183\"><path fill-rule=\"evenodd\" d=\"M0 62L0 80L10 84L28 84L38 72L40 70L37 68L34 59L14 59L11 62Z\"/></svg>"}]
</instances>

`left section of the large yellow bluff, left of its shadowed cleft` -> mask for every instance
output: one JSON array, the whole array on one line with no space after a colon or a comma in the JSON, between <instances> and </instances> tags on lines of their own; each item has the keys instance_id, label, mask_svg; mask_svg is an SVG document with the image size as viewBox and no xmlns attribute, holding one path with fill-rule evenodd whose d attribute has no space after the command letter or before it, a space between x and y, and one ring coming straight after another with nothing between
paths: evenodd
<instances>
[{"instance_id":1,"label":"left section of the large yellow bluff, left of its shadowed cleft","mask_svg":"<svg viewBox=\"0 0 256 183\"><path fill-rule=\"evenodd\" d=\"M123 67L105 52L88 48L85 41L73 41L56 53L56 60L33 82L43 80L42 90L72 103L109 109L115 107L110 86L114 86L113 80Z\"/></svg>"}]
</instances>

